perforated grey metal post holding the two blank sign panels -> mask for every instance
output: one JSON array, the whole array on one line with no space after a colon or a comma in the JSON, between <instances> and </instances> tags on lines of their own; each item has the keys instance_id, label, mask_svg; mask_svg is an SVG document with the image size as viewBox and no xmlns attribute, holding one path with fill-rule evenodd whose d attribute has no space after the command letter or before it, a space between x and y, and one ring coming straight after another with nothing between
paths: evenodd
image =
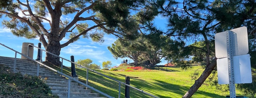
<instances>
[{"instance_id":1,"label":"perforated grey metal post holding the two blank sign panels","mask_svg":"<svg viewBox=\"0 0 256 98\"><path fill-rule=\"evenodd\" d=\"M233 42L232 31L226 31L227 41L227 60L229 69L229 94L230 98L235 98L235 76L234 76L234 64L233 64Z\"/></svg>"}]
</instances>

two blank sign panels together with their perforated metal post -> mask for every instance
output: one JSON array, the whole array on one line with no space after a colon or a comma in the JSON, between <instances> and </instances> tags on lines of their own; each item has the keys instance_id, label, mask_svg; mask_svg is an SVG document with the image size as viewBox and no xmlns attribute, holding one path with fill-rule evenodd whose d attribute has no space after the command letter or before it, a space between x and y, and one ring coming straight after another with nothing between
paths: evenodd
<instances>
[{"instance_id":1,"label":"two blank sign panels together with their perforated metal post","mask_svg":"<svg viewBox=\"0 0 256 98\"><path fill-rule=\"evenodd\" d=\"M252 83L251 62L246 27L217 33L215 55L218 83L229 84L230 98L235 98L235 84Z\"/></svg>"}]
</instances>

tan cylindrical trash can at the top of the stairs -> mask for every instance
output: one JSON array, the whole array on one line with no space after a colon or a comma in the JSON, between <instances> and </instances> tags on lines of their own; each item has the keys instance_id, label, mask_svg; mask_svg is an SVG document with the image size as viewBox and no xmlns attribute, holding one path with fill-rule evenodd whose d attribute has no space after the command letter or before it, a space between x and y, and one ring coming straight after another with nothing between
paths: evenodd
<instances>
[{"instance_id":1,"label":"tan cylindrical trash can at the top of the stairs","mask_svg":"<svg viewBox=\"0 0 256 98\"><path fill-rule=\"evenodd\" d=\"M27 55L27 45L34 45L33 43L29 43L29 42L23 42L22 43L22 49L21 49L21 53L24 55ZM29 57L33 58L33 54L34 54L34 47L33 46L29 46ZM21 56L21 59L27 59L25 56Z\"/></svg>"}]
</instances>

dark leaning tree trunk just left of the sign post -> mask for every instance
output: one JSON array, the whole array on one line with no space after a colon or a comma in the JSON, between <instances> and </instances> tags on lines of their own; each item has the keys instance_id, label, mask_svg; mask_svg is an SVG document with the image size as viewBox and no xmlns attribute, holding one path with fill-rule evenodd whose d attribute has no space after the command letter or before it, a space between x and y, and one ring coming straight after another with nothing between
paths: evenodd
<instances>
[{"instance_id":1,"label":"dark leaning tree trunk just left of the sign post","mask_svg":"<svg viewBox=\"0 0 256 98\"><path fill-rule=\"evenodd\" d=\"M206 66L204 69L204 72L201 74L201 76L195 81L193 86L190 87L190 89L187 91L185 95L183 95L182 98L190 98L192 95L198 90L199 87L204 83L204 81L208 78L208 76L211 74L212 70L216 66L216 60L215 58L210 64Z\"/></svg>"}]
</instances>

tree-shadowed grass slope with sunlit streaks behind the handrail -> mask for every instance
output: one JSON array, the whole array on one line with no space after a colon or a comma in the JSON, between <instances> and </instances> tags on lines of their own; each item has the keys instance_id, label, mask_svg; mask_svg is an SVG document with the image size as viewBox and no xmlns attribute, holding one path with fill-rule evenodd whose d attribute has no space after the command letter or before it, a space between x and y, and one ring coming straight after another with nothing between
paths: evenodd
<instances>
[{"instance_id":1,"label":"tree-shadowed grass slope with sunlit streaks behind the handrail","mask_svg":"<svg viewBox=\"0 0 256 98\"><path fill-rule=\"evenodd\" d=\"M57 70L60 70L59 67L55 67ZM125 82L126 75L123 74L114 74L108 71L102 71L102 70L95 70L97 72L100 72L104 75L111 76L112 78L115 78L121 82ZM86 69L84 68L77 68L76 69L77 75L79 76L79 80L81 82L86 83ZM63 73L70 75L71 68L70 67L64 67ZM118 98L119 93L119 83L108 79L102 75L99 75L97 73L94 73L92 71L89 71L88 75L88 85L96 88L97 90L100 90L108 95L111 95L112 97ZM140 78L131 77L130 79L130 85L133 87L136 87L140 90L145 91L146 93L153 94L160 98L177 98L182 97L187 90L189 90L190 87L181 86L177 84L171 84L168 82L164 82L162 80L152 80L152 82L148 82L145 80L141 80ZM94 91L92 91L94 92ZM223 96L207 93L204 91L197 91L197 94L205 95L207 97L214 97L214 98L221 98ZM173 95L172 95L173 94ZM101 95L101 97L103 97ZM120 97L125 97L125 85L121 84L120 87ZM193 97L193 96L192 96ZM152 98L144 93L141 93L141 91L134 90L133 88L130 88L130 98ZM194 97L196 98L196 97Z\"/></svg>"}]
</instances>

